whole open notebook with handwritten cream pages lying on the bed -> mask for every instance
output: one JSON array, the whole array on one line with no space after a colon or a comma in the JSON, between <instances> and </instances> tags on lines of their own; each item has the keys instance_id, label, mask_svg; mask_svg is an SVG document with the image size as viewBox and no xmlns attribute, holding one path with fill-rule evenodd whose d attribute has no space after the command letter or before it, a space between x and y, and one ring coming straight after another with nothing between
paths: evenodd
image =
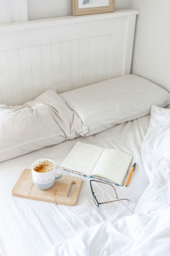
<instances>
[{"instance_id":1,"label":"whole open notebook with handwritten cream pages lying on the bed","mask_svg":"<svg viewBox=\"0 0 170 256\"><path fill-rule=\"evenodd\" d=\"M77 142L61 167L76 174L123 185L132 158L118 150Z\"/></svg>"}]
</instances>

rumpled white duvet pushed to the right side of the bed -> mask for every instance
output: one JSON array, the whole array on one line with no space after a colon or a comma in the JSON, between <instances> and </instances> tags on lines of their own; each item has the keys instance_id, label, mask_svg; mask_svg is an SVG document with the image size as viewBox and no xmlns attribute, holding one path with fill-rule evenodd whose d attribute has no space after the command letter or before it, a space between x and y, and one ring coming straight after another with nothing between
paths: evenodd
<instances>
[{"instance_id":1,"label":"rumpled white duvet pushed to the right side of the bed","mask_svg":"<svg viewBox=\"0 0 170 256\"><path fill-rule=\"evenodd\" d=\"M141 153L150 183L134 214L85 229L53 246L46 256L170 255L169 109L152 106Z\"/></svg>"}]
</instances>

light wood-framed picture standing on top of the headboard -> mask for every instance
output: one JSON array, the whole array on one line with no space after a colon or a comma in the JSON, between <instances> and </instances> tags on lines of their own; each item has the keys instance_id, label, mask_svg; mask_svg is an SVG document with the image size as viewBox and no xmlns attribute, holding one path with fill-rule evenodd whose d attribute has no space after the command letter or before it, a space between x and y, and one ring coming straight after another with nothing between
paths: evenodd
<instances>
[{"instance_id":1,"label":"light wood-framed picture standing on top of the headboard","mask_svg":"<svg viewBox=\"0 0 170 256\"><path fill-rule=\"evenodd\" d=\"M72 0L73 16L114 11L114 0Z\"/></svg>"}]
</instances>

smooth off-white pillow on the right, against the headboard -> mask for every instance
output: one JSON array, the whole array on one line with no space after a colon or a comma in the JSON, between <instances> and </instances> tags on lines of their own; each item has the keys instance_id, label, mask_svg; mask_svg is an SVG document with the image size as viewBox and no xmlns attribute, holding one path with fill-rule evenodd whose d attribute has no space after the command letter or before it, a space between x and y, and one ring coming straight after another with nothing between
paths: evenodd
<instances>
[{"instance_id":1,"label":"smooth off-white pillow on the right, against the headboard","mask_svg":"<svg viewBox=\"0 0 170 256\"><path fill-rule=\"evenodd\" d=\"M166 90L136 75L98 82L60 96L89 127L86 136L145 116L153 104L165 107L170 103Z\"/></svg>"}]
</instances>

